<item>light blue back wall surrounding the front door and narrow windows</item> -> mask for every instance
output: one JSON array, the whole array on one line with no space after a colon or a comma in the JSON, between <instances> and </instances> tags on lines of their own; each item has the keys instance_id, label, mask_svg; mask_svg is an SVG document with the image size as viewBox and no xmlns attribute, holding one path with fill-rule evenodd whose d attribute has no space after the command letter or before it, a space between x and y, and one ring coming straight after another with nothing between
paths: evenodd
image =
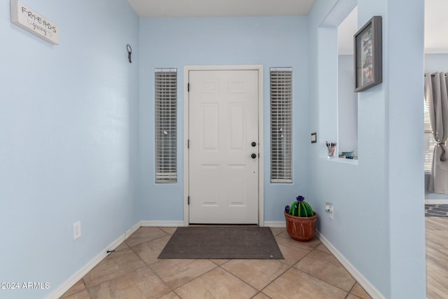
<instances>
[{"instance_id":1,"label":"light blue back wall surrounding the front door and narrow windows","mask_svg":"<svg viewBox=\"0 0 448 299\"><path fill-rule=\"evenodd\" d=\"M199 64L264 66L265 221L283 221L283 207L307 196L309 143L309 38L307 17L176 18L140 20L139 217L183 221L183 67ZM153 72L178 69L179 151L177 184L154 181ZM293 67L293 184L269 182L269 67Z\"/></svg>"}]
</instances>

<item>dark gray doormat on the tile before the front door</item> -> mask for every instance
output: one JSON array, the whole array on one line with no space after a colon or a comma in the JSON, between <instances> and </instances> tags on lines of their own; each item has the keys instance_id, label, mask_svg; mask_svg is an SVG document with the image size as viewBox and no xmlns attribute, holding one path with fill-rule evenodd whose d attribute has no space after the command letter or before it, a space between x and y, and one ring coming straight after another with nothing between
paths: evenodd
<instances>
[{"instance_id":1,"label":"dark gray doormat on the tile before the front door","mask_svg":"<svg viewBox=\"0 0 448 299\"><path fill-rule=\"evenodd\" d=\"M178 228L159 258L283 259L270 228L206 226Z\"/></svg>"}]
</instances>

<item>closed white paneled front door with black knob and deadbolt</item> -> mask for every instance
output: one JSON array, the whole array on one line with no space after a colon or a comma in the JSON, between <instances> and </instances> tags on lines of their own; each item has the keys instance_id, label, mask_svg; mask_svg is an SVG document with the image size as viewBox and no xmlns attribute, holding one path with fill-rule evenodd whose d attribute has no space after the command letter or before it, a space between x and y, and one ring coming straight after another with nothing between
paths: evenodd
<instances>
[{"instance_id":1,"label":"closed white paneled front door with black knob and deadbolt","mask_svg":"<svg viewBox=\"0 0 448 299\"><path fill-rule=\"evenodd\" d=\"M258 224L258 76L188 72L190 223Z\"/></svg>"}]
</instances>

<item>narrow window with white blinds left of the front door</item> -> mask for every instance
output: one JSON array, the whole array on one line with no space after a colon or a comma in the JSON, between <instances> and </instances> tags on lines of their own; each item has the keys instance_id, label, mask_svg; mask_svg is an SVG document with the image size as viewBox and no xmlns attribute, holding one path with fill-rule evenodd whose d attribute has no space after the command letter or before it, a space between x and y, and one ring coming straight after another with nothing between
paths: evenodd
<instances>
[{"instance_id":1,"label":"narrow window with white blinds left of the front door","mask_svg":"<svg viewBox=\"0 0 448 299\"><path fill-rule=\"evenodd\" d=\"M155 69L155 182L177 182L177 69Z\"/></svg>"}]
</instances>

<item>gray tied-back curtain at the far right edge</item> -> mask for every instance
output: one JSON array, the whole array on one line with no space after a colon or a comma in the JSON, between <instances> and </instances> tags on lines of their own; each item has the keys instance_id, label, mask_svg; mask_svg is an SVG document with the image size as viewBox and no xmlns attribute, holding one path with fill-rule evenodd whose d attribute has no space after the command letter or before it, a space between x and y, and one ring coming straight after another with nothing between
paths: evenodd
<instances>
[{"instance_id":1,"label":"gray tied-back curtain at the far right edge","mask_svg":"<svg viewBox=\"0 0 448 299\"><path fill-rule=\"evenodd\" d=\"M448 194L448 153L445 141L448 137L448 76L442 72L425 75L425 98L428 101L429 117L434 148L428 190Z\"/></svg>"}]
</instances>

